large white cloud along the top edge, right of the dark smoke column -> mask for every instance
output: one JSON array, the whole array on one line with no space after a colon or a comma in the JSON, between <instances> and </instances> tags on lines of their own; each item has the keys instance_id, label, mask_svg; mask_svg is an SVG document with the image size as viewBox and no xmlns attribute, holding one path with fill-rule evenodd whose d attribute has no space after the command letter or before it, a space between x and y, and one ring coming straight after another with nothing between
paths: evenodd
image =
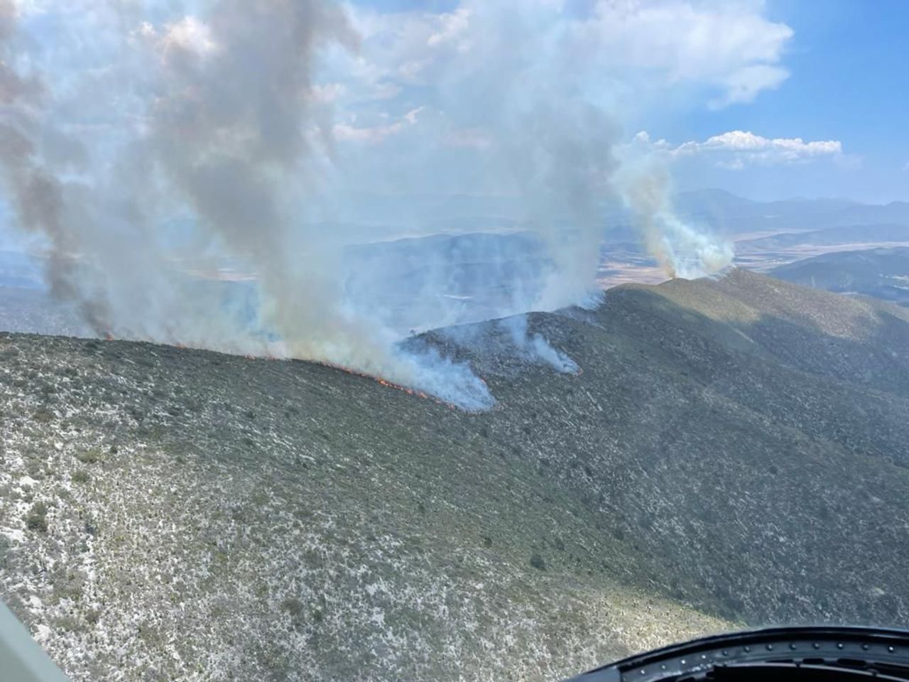
<instances>
[{"instance_id":1,"label":"large white cloud along the top edge, right of the dark smoke column","mask_svg":"<svg viewBox=\"0 0 909 682\"><path fill-rule=\"evenodd\" d=\"M706 90L704 104L746 103L789 76L783 64L793 30L764 16L755 0L596 0L578 15L558 0L462 0L454 11L381 13L348 5L363 37L353 77L365 89L378 82L435 84L454 63L461 73L538 61L564 52L584 89L625 92L666 87ZM348 74L350 71L348 70Z\"/></svg>"}]
</instances>

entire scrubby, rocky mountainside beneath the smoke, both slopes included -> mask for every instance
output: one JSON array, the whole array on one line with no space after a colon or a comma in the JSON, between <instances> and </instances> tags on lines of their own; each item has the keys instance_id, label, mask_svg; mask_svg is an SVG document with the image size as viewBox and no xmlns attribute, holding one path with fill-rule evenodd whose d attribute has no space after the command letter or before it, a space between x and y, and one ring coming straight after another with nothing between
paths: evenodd
<instances>
[{"instance_id":1,"label":"entire scrubby, rocky mountainside beneath the smoke, both slopes included","mask_svg":"<svg viewBox=\"0 0 909 682\"><path fill-rule=\"evenodd\" d=\"M75 680L550 680L909 616L909 310L734 270L343 370L0 336L0 598Z\"/></svg>"}]
</instances>

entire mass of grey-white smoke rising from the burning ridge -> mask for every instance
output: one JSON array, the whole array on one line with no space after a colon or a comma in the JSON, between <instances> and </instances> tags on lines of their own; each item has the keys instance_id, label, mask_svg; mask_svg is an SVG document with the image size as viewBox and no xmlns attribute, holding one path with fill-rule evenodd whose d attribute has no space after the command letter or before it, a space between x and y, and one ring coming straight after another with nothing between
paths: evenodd
<instances>
[{"instance_id":1,"label":"entire mass of grey-white smoke rising from the burning ridge","mask_svg":"<svg viewBox=\"0 0 909 682\"><path fill-rule=\"evenodd\" d=\"M345 227L345 213L371 211L358 197L392 196L385 216L423 234L425 216L457 206L421 212L414 197L504 197L496 219L542 253L521 246L533 266L515 265L527 253L512 246L474 257L498 280L487 317L584 300L610 201L633 207L674 274L724 262L723 246L674 218L664 184L626 182L621 126L572 66L576 27L560 5L352 12L327 0L0 0L5 196L43 236L55 296L99 335L314 359L480 408L492 398L466 366L405 352L382 306L351 299L369 282L349 286L347 247L380 220ZM391 100L399 113L376 110ZM395 292L421 299L424 324L409 325L463 321L464 276L425 277L418 294L412 281ZM574 371L542 339L515 343Z\"/></svg>"}]
</instances>

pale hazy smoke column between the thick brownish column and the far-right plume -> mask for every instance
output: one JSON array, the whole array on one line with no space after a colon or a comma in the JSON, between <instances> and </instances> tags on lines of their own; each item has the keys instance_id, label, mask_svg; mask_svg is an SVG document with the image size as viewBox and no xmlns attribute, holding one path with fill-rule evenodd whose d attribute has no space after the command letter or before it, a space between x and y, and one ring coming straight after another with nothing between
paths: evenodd
<instances>
[{"instance_id":1,"label":"pale hazy smoke column between the thick brownish column and the far-right plume","mask_svg":"<svg viewBox=\"0 0 909 682\"><path fill-rule=\"evenodd\" d=\"M462 10L470 30L434 74L439 106L450 125L486 135L478 170L488 186L520 197L520 218L554 266L534 300L502 314L576 304L595 287L621 125L586 95L564 16L500 2Z\"/></svg>"}]
</instances>

